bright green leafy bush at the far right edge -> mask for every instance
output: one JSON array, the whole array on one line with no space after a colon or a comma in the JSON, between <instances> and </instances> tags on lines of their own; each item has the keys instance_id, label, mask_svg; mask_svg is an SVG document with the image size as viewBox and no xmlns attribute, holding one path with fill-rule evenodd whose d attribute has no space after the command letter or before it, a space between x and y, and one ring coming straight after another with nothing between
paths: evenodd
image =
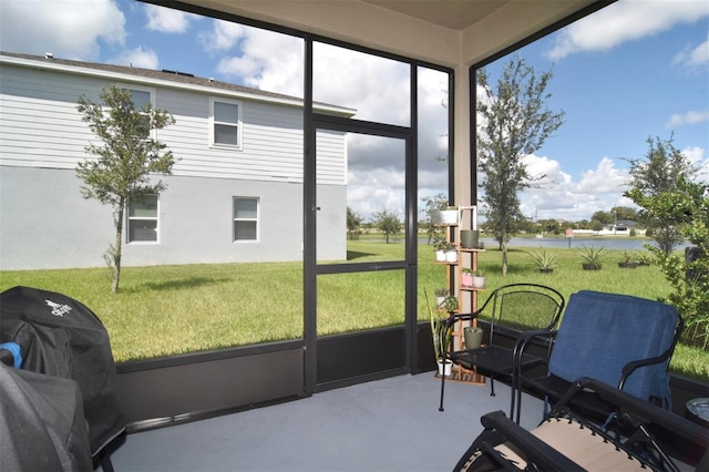
<instances>
[{"instance_id":1,"label":"bright green leafy bush at the far right edge","mask_svg":"<svg viewBox=\"0 0 709 472\"><path fill-rule=\"evenodd\" d=\"M667 301L677 307L687 326L687 340L703 349L709 345L709 184L680 176L674 189L646 195L639 188L630 198L650 218L671 219L679 235L695 245L693 257L680 257L661 247L646 245L674 288Z\"/></svg>"}]
</instances>

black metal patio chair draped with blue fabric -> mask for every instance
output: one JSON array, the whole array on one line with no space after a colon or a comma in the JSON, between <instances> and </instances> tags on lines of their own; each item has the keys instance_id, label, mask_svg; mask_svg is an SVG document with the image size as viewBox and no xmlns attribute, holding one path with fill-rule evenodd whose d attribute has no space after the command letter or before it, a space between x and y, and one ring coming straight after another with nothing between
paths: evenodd
<instances>
[{"instance_id":1,"label":"black metal patio chair draped with blue fabric","mask_svg":"<svg viewBox=\"0 0 709 472\"><path fill-rule=\"evenodd\" d=\"M556 334L544 377L520 374L524 387L558 401L575 379L590 377L637 398L669 409L667 368L681 335L677 309L629 295L580 290L573 294ZM521 358L521 366L524 358ZM517 384L517 418L521 389ZM575 404L588 417L602 420L612 409L594 396L577 396Z\"/></svg>"}]
</instances>

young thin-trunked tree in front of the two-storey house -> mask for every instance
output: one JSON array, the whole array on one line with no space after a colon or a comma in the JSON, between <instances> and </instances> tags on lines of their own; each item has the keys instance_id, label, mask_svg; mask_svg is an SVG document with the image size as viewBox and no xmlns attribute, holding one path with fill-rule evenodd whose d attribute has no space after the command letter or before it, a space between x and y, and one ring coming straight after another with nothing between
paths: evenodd
<instances>
[{"instance_id":1,"label":"young thin-trunked tree in front of the two-storey house","mask_svg":"<svg viewBox=\"0 0 709 472\"><path fill-rule=\"evenodd\" d=\"M76 176L84 183L81 186L84 198L95 198L113 209L115 243L109 245L104 258L113 267L111 288L116 294L125 207L131 201L140 202L143 196L160 194L167 187L151 176L169 175L175 160L171 151L165 151L165 144L152 137L152 131L174 124L175 119L167 111L153 109L151 103L136 109L131 91L116 85L102 88L100 98L103 104L85 95L79 98L76 110L103 144L85 147L95 158L80 162Z\"/></svg>"}]
</instances>

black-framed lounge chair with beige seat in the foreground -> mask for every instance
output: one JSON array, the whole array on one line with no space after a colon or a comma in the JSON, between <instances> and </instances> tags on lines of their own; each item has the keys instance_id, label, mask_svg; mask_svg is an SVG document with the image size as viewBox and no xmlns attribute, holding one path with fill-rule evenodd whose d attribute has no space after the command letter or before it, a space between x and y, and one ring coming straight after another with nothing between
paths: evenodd
<instances>
[{"instance_id":1,"label":"black-framed lounge chair with beige seat in the foreground","mask_svg":"<svg viewBox=\"0 0 709 472\"><path fill-rule=\"evenodd\" d=\"M610 432L568 408L577 396L590 392L613 404L616 414L609 421ZM562 400L532 431L524 430L502 411L483 415L481 422L484 431L461 456L454 471L678 472L668 452L677 444L684 449L682 462L697 471L709 468L706 428L590 378L572 382ZM613 432L618 430L623 433Z\"/></svg>"}]
</instances>

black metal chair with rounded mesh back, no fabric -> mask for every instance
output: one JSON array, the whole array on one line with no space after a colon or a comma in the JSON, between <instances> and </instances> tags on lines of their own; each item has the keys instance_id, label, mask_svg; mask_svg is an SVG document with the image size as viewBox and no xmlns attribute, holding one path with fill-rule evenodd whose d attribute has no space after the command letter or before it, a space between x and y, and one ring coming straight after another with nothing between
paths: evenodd
<instances>
[{"instance_id":1,"label":"black metal chair with rounded mesh back, no fabric","mask_svg":"<svg viewBox=\"0 0 709 472\"><path fill-rule=\"evenodd\" d=\"M449 358L466 369L475 369L490 378L491 396L495 396L494 379L512 382L510 414L514 411L517 373L546 361L546 356L524 352L532 335L554 332L564 309L564 297L555 289L538 284L510 284L495 289L473 314L451 314L448 329L460 320L484 320L490 324L489 341L479 348L453 350ZM506 341L506 342L505 342ZM548 353L548 351L547 351ZM516 358L516 365L514 362ZM443 411L445 377L441 378Z\"/></svg>"}]
</instances>

